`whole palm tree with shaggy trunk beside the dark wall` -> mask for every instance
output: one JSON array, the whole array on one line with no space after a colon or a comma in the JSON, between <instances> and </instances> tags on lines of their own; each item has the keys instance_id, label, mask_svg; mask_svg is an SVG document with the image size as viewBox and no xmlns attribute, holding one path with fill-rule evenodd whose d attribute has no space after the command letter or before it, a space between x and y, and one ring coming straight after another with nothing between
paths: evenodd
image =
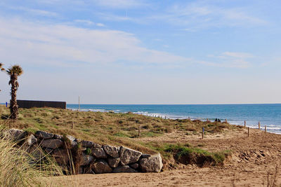
<instances>
[{"instance_id":1,"label":"whole palm tree with shaggy trunk beside the dark wall","mask_svg":"<svg viewBox=\"0 0 281 187\"><path fill-rule=\"evenodd\" d=\"M17 104L17 90L18 90L18 76L20 76L23 71L19 65L13 65L9 68L7 74L10 76L9 85L11 84L11 100L10 100L10 111L11 119L18 118L18 104Z\"/></svg>"}]
</instances>

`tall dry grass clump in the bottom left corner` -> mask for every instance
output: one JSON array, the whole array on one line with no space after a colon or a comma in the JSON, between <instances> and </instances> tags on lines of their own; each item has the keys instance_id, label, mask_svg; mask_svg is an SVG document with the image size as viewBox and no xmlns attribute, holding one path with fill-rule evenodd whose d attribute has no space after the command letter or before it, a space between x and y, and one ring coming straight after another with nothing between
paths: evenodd
<instances>
[{"instance_id":1,"label":"tall dry grass clump in the bottom left corner","mask_svg":"<svg viewBox=\"0 0 281 187\"><path fill-rule=\"evenodd\" d=\"M62 180L48 180L48 176L60 176L60 167L48 156L37 160L35 148L31 153L25 146L18 146L0 124L0 186L60 186Z\"/></svg>"}]
</instances>

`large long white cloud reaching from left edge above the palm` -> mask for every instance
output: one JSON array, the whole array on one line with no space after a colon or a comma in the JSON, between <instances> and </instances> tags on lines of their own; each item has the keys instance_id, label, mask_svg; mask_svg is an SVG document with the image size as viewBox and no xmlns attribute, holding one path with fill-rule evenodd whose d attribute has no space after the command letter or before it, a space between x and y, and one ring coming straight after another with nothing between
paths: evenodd
<instances>
[{"instance_id":1,"label":"large long white cloud reaching from left edge above the palm","mask_svg":"<svg viewBox=\"0 0 281 187\"><path fill-rule=\"evenodd\" d=\"M36 65L86 63L178 64L190 59L141 47L133 34L116 30L42 25L0 18L0 56L4 62Z\"/></svg>"}]
</instances>

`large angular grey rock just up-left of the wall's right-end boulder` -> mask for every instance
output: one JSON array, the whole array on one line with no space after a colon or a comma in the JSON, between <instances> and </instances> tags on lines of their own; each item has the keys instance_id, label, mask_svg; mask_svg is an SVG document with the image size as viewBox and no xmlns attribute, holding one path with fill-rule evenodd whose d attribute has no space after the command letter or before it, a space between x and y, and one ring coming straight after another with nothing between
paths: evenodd
<instances>
[{"instance_id":1,"label":"large angular grey rock just up-left of the wall's right-end boulder","mask_svg":"<svg viewBox=\"0 0 281 187\"><path fill-rule=\"evenodd\" d=\"M120 151L120 160L122 165L128 165L133 162L138 162L138 159L141 157L142 153L139 151L135 151L131 148L126 148L121 146Z\"/></svg>"}]
</instances>

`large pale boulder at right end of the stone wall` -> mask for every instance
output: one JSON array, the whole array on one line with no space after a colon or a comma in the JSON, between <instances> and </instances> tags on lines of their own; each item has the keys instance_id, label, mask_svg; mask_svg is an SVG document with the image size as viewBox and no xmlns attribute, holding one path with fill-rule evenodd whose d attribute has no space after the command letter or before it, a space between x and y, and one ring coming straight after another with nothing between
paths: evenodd
<instances>
[{"instance_id":1,"label":"large pale boulder at right end of the stone wall","mask_svg":"<svg viewBox=\"0 0 281 187\"><path fill-rule=\"evenodd\" d=\"M159 173L163 167L161 155L157 154L151 155L149 158L141 158L140 167L142 172Z\"/></svg>"}]
</instances>

